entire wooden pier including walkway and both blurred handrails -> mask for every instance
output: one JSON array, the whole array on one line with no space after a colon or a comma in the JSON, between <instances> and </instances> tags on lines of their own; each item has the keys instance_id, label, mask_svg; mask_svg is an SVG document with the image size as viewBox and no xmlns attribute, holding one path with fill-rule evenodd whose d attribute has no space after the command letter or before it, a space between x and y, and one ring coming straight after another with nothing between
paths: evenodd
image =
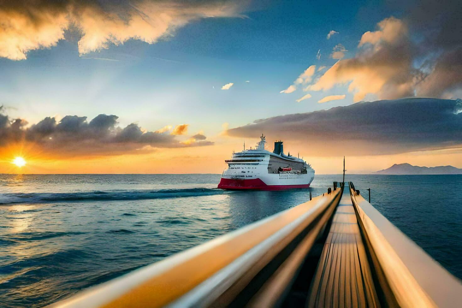
<instances>
[{"instance_id":1,"label":"entire wooden pier including walkway and both blurred handrails","mask_svg":"<svg viewBox=\"0 0 462 308\"><path fill-rule=\"evenodd\" d=\"M251 205L249 205L251 206ZM52 307L455 307L462 284L353 183Z\"/></svg>"}]
</instances>

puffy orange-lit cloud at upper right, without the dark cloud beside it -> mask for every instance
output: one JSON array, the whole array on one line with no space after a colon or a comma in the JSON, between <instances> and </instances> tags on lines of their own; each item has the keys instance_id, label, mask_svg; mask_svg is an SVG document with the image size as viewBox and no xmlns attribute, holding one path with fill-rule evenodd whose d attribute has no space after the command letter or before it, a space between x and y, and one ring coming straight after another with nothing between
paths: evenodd
<instances>
[{"instance_id":1,"label":"puffy orange-lit cloud at upper right, without the dark cloud beside it","mask_svg":"<svg viewBox=\"0 0 462 308\"><path fill-rule=\"evenodd\" d=\"M349 84L354 102L367 94L379 99L412 96L414 69L407 26L390 17L378 23L378 27L380 30L363 35L359 43L362 48L354 58L339 60L307 90L329 90L335 85Z\"/></svg>"}]
</instances>

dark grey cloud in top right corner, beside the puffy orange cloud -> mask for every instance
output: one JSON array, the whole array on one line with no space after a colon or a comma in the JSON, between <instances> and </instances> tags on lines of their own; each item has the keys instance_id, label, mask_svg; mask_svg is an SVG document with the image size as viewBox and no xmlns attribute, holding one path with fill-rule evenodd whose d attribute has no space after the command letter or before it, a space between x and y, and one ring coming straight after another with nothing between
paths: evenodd
<instances>
[{"instance_id":1,"label":"dark grey cloud in top right corner, beside the puffy orange cloud","mask_svg":"<svg viewBox=\"0 0 462 308\"><path fill-rule=\"evenodd\" d=\"M421 67L416 92L419 96L451 98L462 88L462 5L454 0L391 1L407 14L404 20L419 34L417 59ZM423 77L420 82L419 77Z\"/></svg>"}]
</instances>

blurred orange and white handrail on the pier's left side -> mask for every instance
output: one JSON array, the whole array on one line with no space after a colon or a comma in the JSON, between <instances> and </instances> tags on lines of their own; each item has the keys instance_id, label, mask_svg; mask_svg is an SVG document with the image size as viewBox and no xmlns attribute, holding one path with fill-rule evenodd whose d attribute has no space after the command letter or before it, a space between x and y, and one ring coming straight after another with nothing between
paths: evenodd
<instances>
[{"instance_id":1,"label":"blurred orange and white handrail on the pier's left side","mask_svg":"<svg viewBox=\"0 0 462 308\"><path fill-rule=\"evenodd\" d=\"M229 304L252 283L257 274L267 270L265 266L268 264L284 269L284 260L290 259L288 257L292 253L303 251L306 254L311 241L306 239L316 238L321 229L319 222L327 221L326 217L330 217L340 196L340 189L325 193L79 292L51 307L129 307L135 303L139 307ZM274 272L266 274L271 278ZM261 290L265 290L264 286Z\"/></svg>"}]
</instances>

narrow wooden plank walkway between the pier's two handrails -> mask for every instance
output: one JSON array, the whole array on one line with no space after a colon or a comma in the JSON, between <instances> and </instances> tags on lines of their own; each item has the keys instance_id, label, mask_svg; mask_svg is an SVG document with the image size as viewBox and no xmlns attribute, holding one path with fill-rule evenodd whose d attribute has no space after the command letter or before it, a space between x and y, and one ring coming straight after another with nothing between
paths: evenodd
<instances>
[{"instance_id":1,"label":"narrow wooden plank walkway between the pier's two handrails","mask_svg":"<svg viewBox=\"0 0 462 308\"><path fill-rule=\"evenodd\" d=\"M348 187L335 210L307 307L380 307Z\"/></svg>"}]
</instances>

